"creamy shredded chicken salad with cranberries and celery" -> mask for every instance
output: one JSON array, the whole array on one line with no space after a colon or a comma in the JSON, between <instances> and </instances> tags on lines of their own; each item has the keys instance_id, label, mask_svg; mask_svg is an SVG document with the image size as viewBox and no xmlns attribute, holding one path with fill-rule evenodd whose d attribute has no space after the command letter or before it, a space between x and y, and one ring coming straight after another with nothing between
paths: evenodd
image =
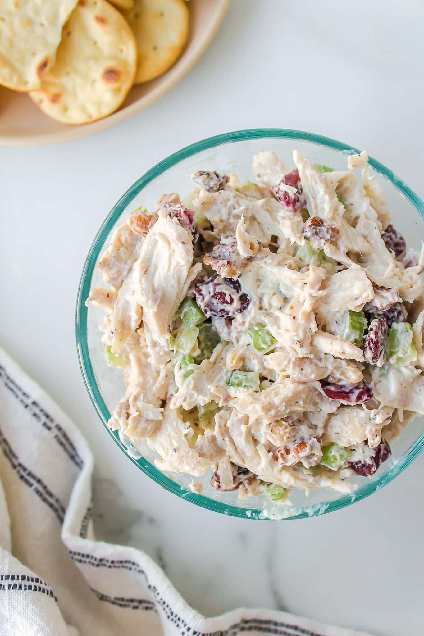
<instances>
[{"instance_id":1,"label":"creamy shredded chicken salad with cranberries and celery","mask_svg":"<svg viewBox=\"0 0 424 636\"><path fill-rule=\"evenodd\" d=\"M264 151L256 183L196 172L182 204L161 195L114 232L88 298L127 384L109 425L158 468L291 506L292 488L352 492L424 415L424 250L406 252L367 159Z\"/></svg>"}]
</instances>

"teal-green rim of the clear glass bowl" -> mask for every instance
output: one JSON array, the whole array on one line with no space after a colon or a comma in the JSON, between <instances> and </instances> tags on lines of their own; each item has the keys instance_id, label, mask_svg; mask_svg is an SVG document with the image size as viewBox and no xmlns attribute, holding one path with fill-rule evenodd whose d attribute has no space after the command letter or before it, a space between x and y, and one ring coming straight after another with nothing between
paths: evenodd
<instances>
[{"instance_id":1,"label":"teal-green rim of the clear glass bowl","mask_svg":"<svg viewBox=\"0 0 424 636\"><path fill-rule=\"evenodd\" d=\"M88 395L92 401L92 404L97 411L100 420L102 420L103 425L106 427L106 430L113 437L114 441L120 446L121 450L125 452L127 457L132 460L133 464L138 466L147 476L152 478L156 483L160 484L166 490L170 490L170 492L174 493L178 497L182 499L186 499L187 501L196 504L196 506L201 506L202 508L207 508L209 510L213 510L218 513L222 513L224 515L235 516L238 518L249 518L249 519L264 519L261 516L262 508L253 508L245 509L239 508L238 506L227 504L226 502L215 501L214 499L210 499L202 494L196 494L190 492L187 488L180 486L176 481L172 479L172 477L162 473L158 470L149 460L146 460L144 457L140 457L140 459L135 459L131 457L127 452L126 446L121 442L118 432L111 431L111 429L107 426L107 420L111 417L111 413L104 402L102 394L100 392L99 386L97 385L97 381L95 379L95 373L93 370L93 366L90 360L90 354L88 350L88 340L87 340L87 315L88 309L85 305L86 298L88 298L88 293L90 292L92 275L95 269L95 265L99 258L100 251L104 247L105 240L109 233L111 232L114 224L117 219L121 216L122 212L127 208L127 205L135 198L140 191L147 186L153 179L157 176L168 170L170 167L176 165L182 160L196 155L197 153L210 149L216 148L217 146L221 146L224 144L229 144L231 142L238 141L250 141L252 139L292 139L294 141L301 140L310 142L311 144L315 144L318 146L325 146L327 148L331 148L334 150L341 151L346 155L350 155L353 153L359 153L359 149L354 146L350 146L349 144L345 144L340 141L336 141L335 139L331 139L329 137L324 137L323 135L317 135L310 132L304 132L301 130L291 130L288 128L250 128L247 130L235 130L233 132L227 132L220 135L215 135L214 137L207 137L207 139L202 139L201 141L195 142L182 148L181 150L173 153L168 156L164 160L153 166L150 170L137 179L135 183L128 188L125 194L118 200L118 202L114 205L111 212L107 215L106 219L100 226L99 232L95 236L93 243L90 247L90 251L88 252L88 256L85 261L85 265L83 267L83 272L81 273L81 279L79 281L78 287L78 296L76 301L76 321L75 321L75 329L76 329L76 345L78 352L78 361L79 367L81 368L81 373L83 375L83 379L85 382L86 389L88 391ZM392 170L388 169L383 163L378 162L373 157L369 157L369 165L373 167L376 172L385 176L392 184L399 190L399 192L404 195L404 197L413 205L418 214L420 214L424 218L424 202L421 200L416 193L414 193L407 184L400 179L397 175L395 175ZM373 494L377 490L380 490L383 486L390 483L397 475L402 473L404 469L406 469L411 462L418 457L421 451L424 448L424 432L420 434L420 436L414 441L414 443L409 447L409 449L397 460L395 460L394 464L384 473L380 475L380 477L375 481L370 481L364 485L361 485L358 490L353 492L352 494L343 495L342 497L338 497L338 499L333 499L327 502L321 502L319 504L311 504L308 506L294 506L291 509L292 516L284 518L284 520L294 520L294 519L302 519L308 518L312 516L324 515L332 511L339 510L341 508L345 508L350 504L361 501L369 495ZM269 518L265 518L264 520L269 520Z\"/></svg>"}]
</instances>

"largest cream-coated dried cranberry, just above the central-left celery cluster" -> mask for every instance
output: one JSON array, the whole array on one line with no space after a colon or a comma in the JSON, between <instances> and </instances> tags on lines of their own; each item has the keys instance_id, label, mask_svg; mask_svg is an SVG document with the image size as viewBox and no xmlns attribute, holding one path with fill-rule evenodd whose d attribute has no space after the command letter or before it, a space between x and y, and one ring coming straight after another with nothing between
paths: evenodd
<instances>
[{"instance_id":1,"label":"largest cream-coated dried cranberry, just above the central-left celery cluster","mask_svg":"<svg viewBox=\"0 0 424 636\"><path fill-rule=\"evenodd\" d=\"M195 289L196 302L207 316L231 318L243 312L250 304L250 298L242 293L240 282L231 278L214 275Z\"/></svg>"}]
</instances>

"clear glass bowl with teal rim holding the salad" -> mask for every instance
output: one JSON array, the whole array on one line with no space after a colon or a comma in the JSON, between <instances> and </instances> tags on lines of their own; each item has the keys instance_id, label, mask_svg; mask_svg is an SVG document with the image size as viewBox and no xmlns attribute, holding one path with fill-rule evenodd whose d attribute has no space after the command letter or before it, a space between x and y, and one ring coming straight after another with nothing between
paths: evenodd
<instances>
[{"instance_id":1,"label":"clear glass bowl with teal rim holding the salad","mask_svg":"<svg viewBox=\"0 0 424 636\"><path fill-rule=\"evenodd\" d=\"M292 491L293 506L277 507L268 499L264 501L262 496L240 501L236 491L218 493L209 484L210 475L203 478L203 494L195 494L188 488L191 481L189 475L162 473L154 466L154 458L157 455L147 444L135 449L118 432L113 432L107 427L107 420L123 396L125 385L121 371L107 367L104 361L99 332L104 312L92 305L87 308L85 300L93 285L102 284L102 277L96 265L109 244L111 234L137 205L142 204L146 205L147 209L153 209L154 202L164 192L176 191L184 197L191 189L186 175L199 169L227 173L233 171L241 181L248 180L252 155L261 150L273 150L282 161L292 165L291 153L294 148L308 156L311 162L324 163L343 170L346 170L346 155L358 152L356 148L334 139L282 128L239 130L187 146L148 170L114 205L90 248L78 290L76 341L79 364L87 391L106 430L134 464L170 492L197 506L246 519L301 519L323 515L368 497L392 481L423 450L423 418L414 418L402 431L400 438L392 444L392 457L376 474L371 478L355 478L354 481L357 481L359 487L353 494L341 496L321 488L312 490L310 496L306 497L303 492ZM369 165L374 173L378 173L383 184L388 207L393 214L393 225L402 232L408 245L417 247L418 239L424 236L423 201L380 162L370 157Z\"/></svg>"}]
</instances>

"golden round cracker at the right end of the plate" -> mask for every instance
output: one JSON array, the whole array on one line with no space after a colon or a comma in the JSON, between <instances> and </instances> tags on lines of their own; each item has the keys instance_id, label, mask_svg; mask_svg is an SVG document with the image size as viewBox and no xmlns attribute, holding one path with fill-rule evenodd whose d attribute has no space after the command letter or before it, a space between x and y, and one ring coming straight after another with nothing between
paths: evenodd
<instances>
[{"instance_id":1,"label":"golden round cracker at the right end of the plate","mask_svg":"<svg viewBox=\"0 0 424 636\"><path fill-rule=\"evenodd\" d=\"M135 0L123 15L137 41L139 64L134 83L156 78L174 64L188 37L185 0Z\"/></svg>"}]
</instances>

